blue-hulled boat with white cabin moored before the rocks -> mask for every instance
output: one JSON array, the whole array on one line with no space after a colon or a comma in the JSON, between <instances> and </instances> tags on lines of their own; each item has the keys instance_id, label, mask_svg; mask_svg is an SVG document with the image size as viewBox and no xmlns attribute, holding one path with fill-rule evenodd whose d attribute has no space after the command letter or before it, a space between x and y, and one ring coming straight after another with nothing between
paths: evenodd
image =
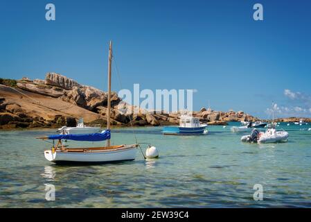
<instances>
[{"instance_id":1,"label":"blue-hulled boat with white cabin moored before the rocks","mask_svg":"<svg viewBox=\"0 0 311 222\"><path fill-rule=\"evenodd\" d=\"M164 135L202 135L208 133L207 124L201 124L199 118L189 112L183 112L179 119L179 126L163 127Z\"/></svg>"}]
</instances>

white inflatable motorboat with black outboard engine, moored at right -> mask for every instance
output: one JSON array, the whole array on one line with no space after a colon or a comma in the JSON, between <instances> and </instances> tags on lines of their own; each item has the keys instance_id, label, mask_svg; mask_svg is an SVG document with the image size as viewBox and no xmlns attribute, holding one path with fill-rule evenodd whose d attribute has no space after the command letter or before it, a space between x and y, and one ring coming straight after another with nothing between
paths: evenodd
<instances>
[{"instance_id":1,"label":"white inflatable motorboat with black outboard engine, moored at right","mask_svg":"<svg viewBox=\"0 0 311 222\"><path fill-rule=\"evenodd\" d=\"M242 142L267 144L277 142L287 142L289 134L285 130L276 130L275 126L269 126L265 133L254 129L250 135L241 137Z\"/></svg>"}]
</instances>

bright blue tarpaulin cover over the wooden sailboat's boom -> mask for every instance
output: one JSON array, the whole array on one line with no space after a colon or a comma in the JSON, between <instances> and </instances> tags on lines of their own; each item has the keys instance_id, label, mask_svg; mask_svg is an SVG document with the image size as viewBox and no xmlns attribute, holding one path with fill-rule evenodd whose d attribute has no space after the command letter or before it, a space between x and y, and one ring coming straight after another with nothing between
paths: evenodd
<instances>
[{"instance_id":1,"label":"bright blue tarpaulin cover over the wooden sailboat's boom","mask_svg":"<svg viewBox=\"0 0 311 222\"><path fill-rule=\"evenodd\" d=\"M103 133L50 135L48 136L48 139L70 139L75 141L104 141L106 139L110 139L110 130L105 130Z\"/></svg>"}]
</instances>

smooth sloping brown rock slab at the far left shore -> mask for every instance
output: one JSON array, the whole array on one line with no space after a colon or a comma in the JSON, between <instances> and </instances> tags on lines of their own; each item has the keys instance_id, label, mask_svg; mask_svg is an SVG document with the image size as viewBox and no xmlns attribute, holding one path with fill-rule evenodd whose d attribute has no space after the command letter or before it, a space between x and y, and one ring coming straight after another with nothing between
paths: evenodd
<instances>
[{"instance_id":1,"label":"smooth sloping brown rock slab at the far left shore","mask_svg":"<svg viewBox=\"0 0 311 222\"><path fill-rule=\"evenodd\" d=\"M23 89L0 85L0 128L34 128L76 126L79 117L87 122L100 118L99 114Z\"/></svg>"}]
</instances>

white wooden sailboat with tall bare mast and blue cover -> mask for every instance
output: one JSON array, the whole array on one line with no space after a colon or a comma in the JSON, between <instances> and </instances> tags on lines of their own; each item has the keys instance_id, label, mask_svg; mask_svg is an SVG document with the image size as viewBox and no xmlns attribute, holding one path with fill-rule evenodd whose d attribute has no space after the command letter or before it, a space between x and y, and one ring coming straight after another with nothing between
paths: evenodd
<instances>
[{"instance_id":1,"label":"white wooden sailboat with tall bare mast and blue cover","mask_svg":"<svg viewBox=\"0 0 311 222\"><path fill-rule=\"evenodd\" d=\"M136 150L139 144L111 146L110 144L110 109L111 109L111 76L112 76L112 42L109 44L108 59L108 107L107 107L107 130L102 133L79 134L79 135L51 135L48 137L39 137L37 139L52 139L53 146L50 150L44 151L46 160L62 163L62 162L89 162L89 163L105 163L125 160L134 160ZM69 148L64 146L62 139L71 139L75 141L107 141L107 146L91 147L91 148ZM58 140L56 146L54 141Z\"/></svg>"}]
</instances>

